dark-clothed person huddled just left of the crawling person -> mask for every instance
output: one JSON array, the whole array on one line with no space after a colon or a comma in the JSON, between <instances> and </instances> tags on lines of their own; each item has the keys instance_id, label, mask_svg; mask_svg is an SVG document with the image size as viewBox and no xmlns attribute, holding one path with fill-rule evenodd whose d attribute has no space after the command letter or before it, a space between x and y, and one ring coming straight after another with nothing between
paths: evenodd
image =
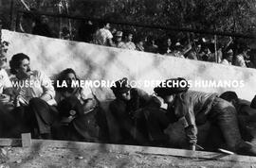
<instances>
[{"instance_id":1,"label":"dark-clothed person huddled just left of the crawling person","mask_svg":"<svg viewBox=\"0 0 256 168\"><path fill-rule=\"evenodd\" d=\"M127 78L111 88L116 99L109 109L119 126L120 139L116 143L161 145L168 143L164 129L169 120L160 108L160 102L137 88L131 88Z\"/></svg>"}]
</instances>

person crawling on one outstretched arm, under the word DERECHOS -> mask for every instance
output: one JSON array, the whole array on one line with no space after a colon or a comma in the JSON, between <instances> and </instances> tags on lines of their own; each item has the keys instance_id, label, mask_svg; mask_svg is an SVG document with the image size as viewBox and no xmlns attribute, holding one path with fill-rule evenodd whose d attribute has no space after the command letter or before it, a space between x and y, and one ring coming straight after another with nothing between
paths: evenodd
<instances>
[{"instance_id":1,"label":"person crawling on one outstretched arm, under the word DERECHOS","mask_svg":"<svg viewBox=\"0 0 256 168\"><path fill-rule=\"evenodd\" d=\"M196 125L211 124L220 128L228 150L242 155L256 156L256 147L242 140L236 116L236 109L216 93L188 91L189 84L184 78L173 78L162 82L154 91L174 109L177 118L185 117L188 126L185 133L189 149L195 150L197 143Z\"/></svg>"}]
</instances>

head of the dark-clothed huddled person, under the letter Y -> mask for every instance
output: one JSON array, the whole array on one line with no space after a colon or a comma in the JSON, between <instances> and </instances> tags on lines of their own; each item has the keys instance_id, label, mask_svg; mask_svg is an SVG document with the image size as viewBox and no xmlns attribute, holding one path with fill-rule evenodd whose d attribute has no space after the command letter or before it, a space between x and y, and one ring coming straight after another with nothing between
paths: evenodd
<instances>
[{"instance_id":1,"label":"head of the dark-clothed huddled person, under the letter Y","mask_svg":"<svg viewBox=\"0 0 256 168\"><path fill-rule=\"evenodd\" d=\"M111 87L111 90L114 92L115 96L118 99L129 101L131 100L132 87L128 84L128 79L126 77L115 82L115 86Z\"/></svg>"}]
</instances>

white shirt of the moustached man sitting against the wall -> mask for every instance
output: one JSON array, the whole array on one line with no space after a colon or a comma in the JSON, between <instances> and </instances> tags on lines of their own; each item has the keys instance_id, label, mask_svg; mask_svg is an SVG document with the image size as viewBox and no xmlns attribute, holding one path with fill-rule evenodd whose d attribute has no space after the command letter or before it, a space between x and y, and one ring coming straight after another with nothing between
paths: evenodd
<instances>
[{"instance_id":1,"label":"white shirt of the moustached man sitting against the wall","mask_svg":"<svg viewBox=\"0 0 256 168\"><path fill-rule=\"evenodd\" d=\"M27 103L31 98L41 97L47 93L51 96L51 99L47 101L48 105L56 105L54 87L46 74L32 71L28 79L19 80L17 77L13 77L11 80L16 94L22 96Z\"/></svg>"}]
</instances>

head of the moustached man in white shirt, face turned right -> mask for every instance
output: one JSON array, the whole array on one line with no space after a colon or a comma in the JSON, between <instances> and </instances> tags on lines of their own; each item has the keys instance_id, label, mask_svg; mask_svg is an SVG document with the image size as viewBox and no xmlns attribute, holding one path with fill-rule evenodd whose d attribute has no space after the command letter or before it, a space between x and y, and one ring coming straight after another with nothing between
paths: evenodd
<instances>
[{"instance_id":1,"label":"head of the moustached man in white shirt, face turned right","mask_svg":"<svg viewBox=\"0 0 256 168\"><path fill-rule=\"evenodd\" d=\"M10 73L16 76L28 77L31 75L30 59L23 53L15 54L9 61Z\"/></svg>"}]
</instances>

